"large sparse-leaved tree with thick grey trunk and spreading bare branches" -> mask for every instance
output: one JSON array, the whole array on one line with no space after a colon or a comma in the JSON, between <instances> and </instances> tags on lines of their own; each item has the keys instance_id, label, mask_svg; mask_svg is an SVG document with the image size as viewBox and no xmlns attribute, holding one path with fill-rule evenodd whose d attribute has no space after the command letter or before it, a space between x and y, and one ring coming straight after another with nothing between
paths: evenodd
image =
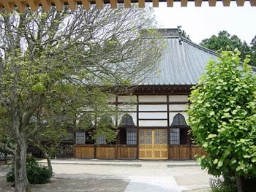
<instances>
[{"instance_id":1,"label":"large sparse-leaved tree with thick grey trunk and spreading bare branches","mask_svg":"<svg viewBox=\"0 0 256 192\"><path fill-rule=\"evenodd\" d=\"M56 11L0 15L0 103L10 117L15 191L29 191L27 141L37 130L31 117L56 85L122 85L154 69L161 46L149 38L148 9ZM86 86L85 86L86 87Z\"/></svg>"}]
</instances>

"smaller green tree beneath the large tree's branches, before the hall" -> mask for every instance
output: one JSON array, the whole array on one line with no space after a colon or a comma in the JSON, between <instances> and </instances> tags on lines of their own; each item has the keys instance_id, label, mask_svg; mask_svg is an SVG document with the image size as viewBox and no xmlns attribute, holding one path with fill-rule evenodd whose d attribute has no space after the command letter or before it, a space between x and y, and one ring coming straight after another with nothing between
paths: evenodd
<instances>
[{"instance_id":1,"label":"smaller green tree beneath the large tree's branches, before the hall","mask_svg":"<svg viewBox=\"0 0 256 192\"><path fill-rule=\"evenodd\" d=\"M97 131L108 136L106 139L109 142L116 138L116 131L111 130L108 123L99 125L95 120L102 119L104 115L116 115L116 109L108 104L112 94L105 93L101 88L83 88L83 85L69 83L55 86L55 92L45 99L32 117L34 123L31 126L35 134L29 138L31 145L42 150L51 172L50 158L60 152L61 142L74 139L75 131L88 132L91 128L91 140L97 137Z\"/></svg>"}]
</instances>

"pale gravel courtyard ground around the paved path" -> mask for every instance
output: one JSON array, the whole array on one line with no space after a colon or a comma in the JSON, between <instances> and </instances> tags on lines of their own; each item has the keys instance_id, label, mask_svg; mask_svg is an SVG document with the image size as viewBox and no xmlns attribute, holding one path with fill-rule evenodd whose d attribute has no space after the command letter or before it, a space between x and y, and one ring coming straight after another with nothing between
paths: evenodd
<instances>
[{"instance_id":1,"label":"pale gravel courtyard ground around the paved path","mask_svg":"<svg viewBox=\"0 0 256 192\"><path fill-rule=\"evenodd\" d=\"M148 177L148 175L156 173L167 179L173 177L181 187L181 190L186 192L210 191L210 188L208 188L208 174L202 172L197 166L186 166L185 164L181 166L166 166L166 162L157 162L156 164L148 161L140 162L142 164L140 167L86 164L91 162L93 161L84 161L84 164L58 164L56 162L56 164L53 164L55 174L50 183L31 185L31 192L124 192L131 180L131 176ZM99 163L102 163L102 161ZM8 171L9 168L1 164L0 161L0 192L15 191L4 177Z\"/></svg>"}]
</instances>

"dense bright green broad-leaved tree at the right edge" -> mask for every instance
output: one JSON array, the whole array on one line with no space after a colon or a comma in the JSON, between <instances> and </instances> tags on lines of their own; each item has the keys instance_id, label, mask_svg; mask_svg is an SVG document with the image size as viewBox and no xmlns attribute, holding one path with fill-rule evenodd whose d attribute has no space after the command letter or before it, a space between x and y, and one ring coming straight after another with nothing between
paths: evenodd
<instances>
[{"instance_id":1,"label":"dense bright green broad-leaved tree at the right edge","mask_svg":"<svg viewBox=\"0 0 256 192\"><path fill-rule=\"evenodd\" d=\"M195 142L208 153L200 158L203 169L236 176L242 191L241 177L256 177L256 76L239 55L226 51L208 61L192 88L188 115Z\"/></svg>"}]
</instances>

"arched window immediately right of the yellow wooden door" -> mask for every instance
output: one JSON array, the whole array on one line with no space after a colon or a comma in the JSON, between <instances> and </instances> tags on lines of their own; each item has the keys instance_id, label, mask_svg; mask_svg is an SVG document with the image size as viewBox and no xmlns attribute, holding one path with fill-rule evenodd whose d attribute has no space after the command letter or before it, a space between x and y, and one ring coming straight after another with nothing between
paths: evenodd
<instances>
[{"instance_id":1,"label":"arched window immediately right of the yellow wooden door","mask_svg":"<svg viewBox=\"0 0 256 192\"><path fill-rule=\"evenodd\" d=\"M183 115L178 113L173 118L173 123L170 125L170 145L188 145L189 126Z\"/></svg>"}]
</instances>

